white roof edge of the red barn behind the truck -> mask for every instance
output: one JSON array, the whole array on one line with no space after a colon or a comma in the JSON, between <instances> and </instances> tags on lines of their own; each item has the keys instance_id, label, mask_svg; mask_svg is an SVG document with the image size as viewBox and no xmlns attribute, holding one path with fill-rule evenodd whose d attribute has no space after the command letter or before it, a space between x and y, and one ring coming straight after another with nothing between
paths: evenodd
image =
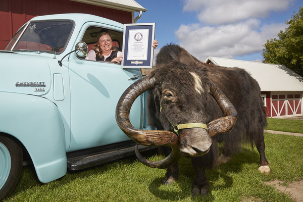
<instances>
[{"instance_id":1,"label":"white roof edge of the red barn behind the truck","mask_svg":"<svg viewBox=\"0 0 303 202\"><path fill-rule=\"evenodd\" d=\"M145 12L147 9L136 3L134 0L72 0L96 6L107 7L128 12Z\"/></svg>"}]
</instances>

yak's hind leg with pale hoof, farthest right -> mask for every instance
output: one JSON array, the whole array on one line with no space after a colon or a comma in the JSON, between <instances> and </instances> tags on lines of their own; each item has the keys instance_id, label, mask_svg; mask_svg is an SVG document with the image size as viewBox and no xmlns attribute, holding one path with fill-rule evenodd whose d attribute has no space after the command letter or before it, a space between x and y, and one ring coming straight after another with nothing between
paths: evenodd
<instances>
[{"instance_id":1,"label":"yak's hind leg with pale hoof, farthest right","mask_svg":"<svg viewBox=\"0 0 303 202\"><path fill-rule=\"evenodd\" d=\"M267 159L265 157L265 143L264 143L263 127L261 129L258 129L258 135L255 135L255 143L256 143L256 147L260 154L260 163L259 163L258 170L260 173L265 173L268 175L270 173L270 167L269 167L269 163L267 162Z\"/></svg>"}]
</instances>

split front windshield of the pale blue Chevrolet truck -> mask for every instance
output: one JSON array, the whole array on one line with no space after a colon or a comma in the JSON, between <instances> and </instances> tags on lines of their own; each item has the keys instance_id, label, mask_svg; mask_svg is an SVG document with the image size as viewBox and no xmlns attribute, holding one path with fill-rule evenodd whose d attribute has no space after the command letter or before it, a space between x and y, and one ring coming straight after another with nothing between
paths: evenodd
<instances>
[{"instance_id":1,"label":"split front windshield of the pale blue Chevrolet truck","mask_svg":"<svg viewBox=\"0 0 303 202\"><path fill-rule=\"evenodd\" d=\"M68 43L73 27L72 21L32 21L12 51L60 54ZM12 41L15 42L21 32L22 29L15 34ZM12 41L6 49L11 49Z\"/></svg>"}]
</instances>

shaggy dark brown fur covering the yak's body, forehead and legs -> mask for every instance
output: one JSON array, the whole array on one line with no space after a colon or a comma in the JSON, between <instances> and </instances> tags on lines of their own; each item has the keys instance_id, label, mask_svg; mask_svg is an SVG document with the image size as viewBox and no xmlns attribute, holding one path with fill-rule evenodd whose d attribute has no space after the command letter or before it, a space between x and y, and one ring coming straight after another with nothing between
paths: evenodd
<instances>
[{"instance_id":1,"label":"shaggy dark brown fur covering the yak's body, forehead and legs","mask_svg":"<svg viewBox=\"0 0 303 202\"><path fill-rule=\"evenodd\" d=\"M194 89L193 72L201 80L204 92ZM217 142L223 142L222 154L230 157L235 154L244 140L256 144L260 153L259 166L268 166L265 157L263 129L266 126L266 114L260 96L260 87L246 71L240 68L226 68L201 63L178 45L164 46L157 56L157 69L151 73L156 77L155 88L149 92L148 110L151 122L160 130L173 131L168 119L175 123L204 122L223 117L215 99L209 94L210 81L213 81L237 110L238 120L232 131L212 137L212 146L208 154L192 157L196 171L193 182L193 194L204 195L208 191L206 167L218 164L219 149ZM176 103L163 98L163 89L176 92ZM162 113L160 113L162 103ZM180 135L180 138L183 138ZM169 152L169 151L168 151ZM169 184L178 179L178 165L167 169L163 183Z\"/></svg>"}]
</instances>

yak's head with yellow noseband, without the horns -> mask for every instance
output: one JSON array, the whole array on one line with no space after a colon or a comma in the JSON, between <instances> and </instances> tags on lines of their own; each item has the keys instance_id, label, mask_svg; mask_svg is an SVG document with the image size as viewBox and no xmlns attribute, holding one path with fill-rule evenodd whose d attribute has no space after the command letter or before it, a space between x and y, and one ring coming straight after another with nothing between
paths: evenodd
<instances>
[{"instance_id":1,"label":"yak's head with yellow noseband, without the horns","mask_svg":"<svg viewBox=\"0 0 303 202\"><path fill-rule=\"evenodd\" d=\"M173 62L159 66L150 77L156 79L148 99L153 124L178 134L180 151L186 156L206 154L212 144L206 125L210 121L206 70Z\"/></svg>"}]
</instances>

